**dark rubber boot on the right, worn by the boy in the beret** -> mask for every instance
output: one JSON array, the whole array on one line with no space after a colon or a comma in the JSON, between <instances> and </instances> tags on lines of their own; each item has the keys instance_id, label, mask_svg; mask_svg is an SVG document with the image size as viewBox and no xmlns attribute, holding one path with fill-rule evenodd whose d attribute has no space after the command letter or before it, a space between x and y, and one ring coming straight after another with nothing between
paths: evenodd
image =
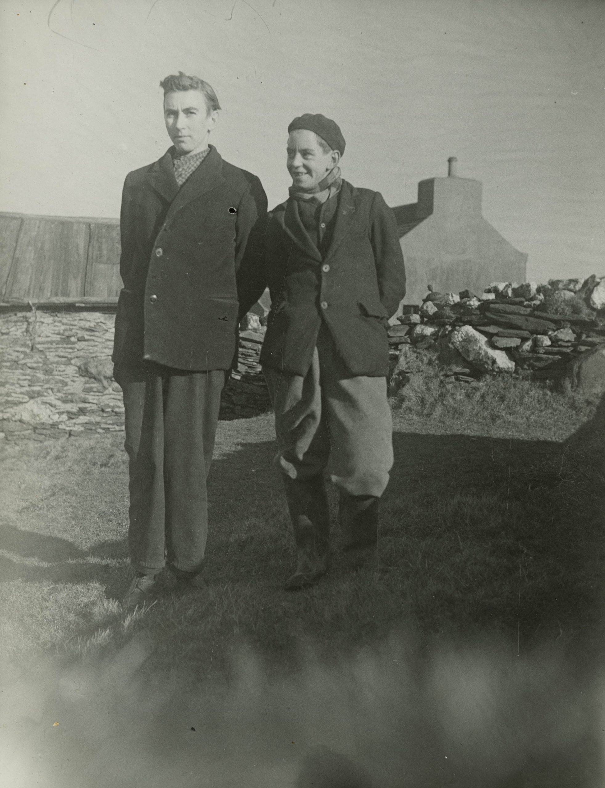
<instances>
[{"instance_id":1,"label":"dark rubber boot on the right, worn by the boy in the beret","mask_svg":"<svg viewBox=\"0 0 605 788\"><path fill-rule=\"evenodd\" d=\"M339 520L345 537L342 547L352 569L378 566L378 506L372 495L349 495L341 490Z\"/></svg>"}]
</instances>

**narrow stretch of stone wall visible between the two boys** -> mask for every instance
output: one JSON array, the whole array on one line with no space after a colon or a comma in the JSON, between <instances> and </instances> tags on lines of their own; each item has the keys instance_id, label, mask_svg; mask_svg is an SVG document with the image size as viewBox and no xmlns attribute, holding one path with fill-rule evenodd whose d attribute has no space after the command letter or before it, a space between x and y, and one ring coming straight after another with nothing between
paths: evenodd
<instances>
[{"instance_id":1,"label":"narrow stretch of stone wall visible between the two boys","mask_svg":"<svg viewBox=\"0 0 605 788\"><path fill-rule=\"evenodd\" d=\"M247 314L241 322L237 369L223 389L220 418L249 418L271 408L260 367L260 348L266 330L256 314Z\"/></svg>"}]
</instances>

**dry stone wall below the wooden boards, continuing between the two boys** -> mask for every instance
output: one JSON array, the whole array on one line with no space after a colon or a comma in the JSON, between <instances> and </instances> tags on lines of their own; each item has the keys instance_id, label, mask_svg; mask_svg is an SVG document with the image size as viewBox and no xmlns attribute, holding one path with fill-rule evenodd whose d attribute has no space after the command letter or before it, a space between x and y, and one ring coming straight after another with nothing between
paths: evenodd
<instances>
[{"instance_id":1,"label":"dry stone wall below the wooden boards, continuing between the two boys","mask_svg":"<svg viewBox=\"0 0 605 788\"><path fill-rule=\"evenodd\" d=\"M240 360L222 396L220 418L269 407L259 355L264 328L250 315ZM113 380L110 312L8 312L0 315L0 436L46 440L121 432L124 405Z\"/></svg>"}]
</instances>

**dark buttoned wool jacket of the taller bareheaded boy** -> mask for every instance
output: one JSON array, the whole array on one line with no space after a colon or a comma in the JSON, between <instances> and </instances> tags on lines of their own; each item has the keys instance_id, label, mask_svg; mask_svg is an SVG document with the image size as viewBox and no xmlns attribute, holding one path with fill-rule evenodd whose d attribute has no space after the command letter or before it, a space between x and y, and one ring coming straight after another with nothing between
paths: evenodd
<instances>
[{"instance_id":1,"label":"dark buttoned wool jacket of the taller bareheaded boy","mask_svg":"<svg viewBox=\"0 0 605 788\"><path fill-rule=\"evenodd\" d=\"M260 180L216 148L179 189L170 152L129 173L121 203L114 363L228 370L238 290L257 292L267 198Z\"/></svg>"}]
</instances>

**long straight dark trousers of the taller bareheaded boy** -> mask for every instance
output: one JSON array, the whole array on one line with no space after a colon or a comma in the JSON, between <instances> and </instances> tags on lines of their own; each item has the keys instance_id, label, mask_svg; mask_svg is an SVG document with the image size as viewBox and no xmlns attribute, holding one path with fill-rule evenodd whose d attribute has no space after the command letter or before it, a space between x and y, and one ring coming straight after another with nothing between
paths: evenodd
<instances>
[{"instance_id":1,"label":"long straight dark trousers of the taller bareheaded boy","mask_svg":"<svg viewBox=\"0 0 605 788\"><path fill-rule=\"evenodd\" d=\"M129 455L129 554L155 574L200 572L207 540L206 479L215 447L224 370L117 365Z\"/></svg>"}]
</instances>

